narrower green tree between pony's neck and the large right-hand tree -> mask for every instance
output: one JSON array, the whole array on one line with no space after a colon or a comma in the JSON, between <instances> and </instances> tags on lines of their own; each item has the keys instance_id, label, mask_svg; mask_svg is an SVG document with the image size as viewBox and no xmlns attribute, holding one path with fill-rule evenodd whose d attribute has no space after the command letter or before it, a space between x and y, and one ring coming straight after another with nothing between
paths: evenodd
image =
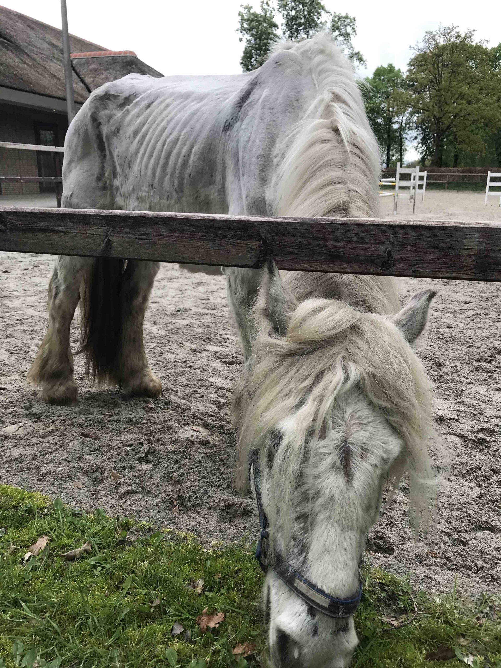
<instances>
[{"instance_id":1,"label":"narrower green tree between pony's neck and the large right-hand tree","mask_svg":"<svg viewBox=\"0 0 501 668\"><path fill-rule=\"evenodd\" d=\"M403 162L408 116L405 77L400 69L389 63L386 67L377 67L365 81L365 110L385 164L389 167L394 158Z\"/></svg>"}]
</instances>

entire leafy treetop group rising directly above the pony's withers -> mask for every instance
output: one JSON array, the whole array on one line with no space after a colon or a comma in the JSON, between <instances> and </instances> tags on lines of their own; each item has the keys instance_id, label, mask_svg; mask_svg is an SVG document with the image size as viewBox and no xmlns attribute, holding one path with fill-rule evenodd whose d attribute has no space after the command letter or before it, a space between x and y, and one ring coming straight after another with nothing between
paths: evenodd
<instances>
[{"instance_id":1,"label":"entire leafy treetop group rising directly above the pony's withers","mask_svg":"<svg viewBox=\"0 0 501 668\"><path fill-rule=\"evenodd\" d=\"M240 64L250 71L263 64L273 40L277 37L301 41L321 30L330 29L347 56L359 65L365 65L360 51L355 51L352 39L357 34L355 18L347 14L331 14L320 0L277 0L281 34L277 34L275 7L270 0L261 0L261 11L251 5L242 5L238 12L240 41L245 41Z\"/></svg>"}]
</instances>

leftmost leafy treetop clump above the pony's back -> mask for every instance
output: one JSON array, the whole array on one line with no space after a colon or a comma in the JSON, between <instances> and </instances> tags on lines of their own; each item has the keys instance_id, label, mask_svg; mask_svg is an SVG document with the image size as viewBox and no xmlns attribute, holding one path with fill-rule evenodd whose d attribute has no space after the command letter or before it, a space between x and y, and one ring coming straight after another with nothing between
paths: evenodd
<instances>
[{"instance_id":1,"label":"leftmost leafy treetop clump above the pony's back","mask_svg":"<svg viewBox=\"0 0 501 668\"><path fill-rule=\"evenodd\" d=\"M261 0L261 12L255 11L251 5L241 6L237 32L240 33L240 41L245 41L240 58L244 72L263 65L273 41L277 39L278 28L269 0Z\"/></svg>"}]
</instances>

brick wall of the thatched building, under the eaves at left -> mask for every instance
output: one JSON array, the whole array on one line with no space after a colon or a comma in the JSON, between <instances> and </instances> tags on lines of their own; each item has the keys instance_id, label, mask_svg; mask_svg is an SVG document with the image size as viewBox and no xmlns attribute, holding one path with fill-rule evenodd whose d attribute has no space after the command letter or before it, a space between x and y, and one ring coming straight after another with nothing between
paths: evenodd
<instances>
[{"instance_id":1,"label":"brick wall of the thatched building, under the eaves at left","mask_svg":"<svg viewBox=\"0 0 501 668\"><path fill-rule=\"evenodd\" d=\"M59 145L63 145L67 129L64 116L9 104L0 104L0 141L36 144L35 122L57 124L59 126ZM37 152L0 148L0 176L39 176ZM27 195L40 192L37 183L2 183L0 187L3 195Z\"/></svg>"}]
</instances>

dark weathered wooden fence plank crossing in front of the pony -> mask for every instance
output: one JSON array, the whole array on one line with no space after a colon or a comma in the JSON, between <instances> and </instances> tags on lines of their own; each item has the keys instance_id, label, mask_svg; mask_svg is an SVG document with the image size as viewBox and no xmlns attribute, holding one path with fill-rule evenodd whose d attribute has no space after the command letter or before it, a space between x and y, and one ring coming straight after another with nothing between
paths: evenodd
<instances>
[{"instance_id":1,"label":"dark weathered wooden fence plank crossing in front of the pony","mask_svg":"<svg viewBox=\"0 0 501 668\"><path fill-rule=\"evenodd\" d=\"M501 281L501 222L0 208L0 250Z\"/></svg>"}]
</instances>

